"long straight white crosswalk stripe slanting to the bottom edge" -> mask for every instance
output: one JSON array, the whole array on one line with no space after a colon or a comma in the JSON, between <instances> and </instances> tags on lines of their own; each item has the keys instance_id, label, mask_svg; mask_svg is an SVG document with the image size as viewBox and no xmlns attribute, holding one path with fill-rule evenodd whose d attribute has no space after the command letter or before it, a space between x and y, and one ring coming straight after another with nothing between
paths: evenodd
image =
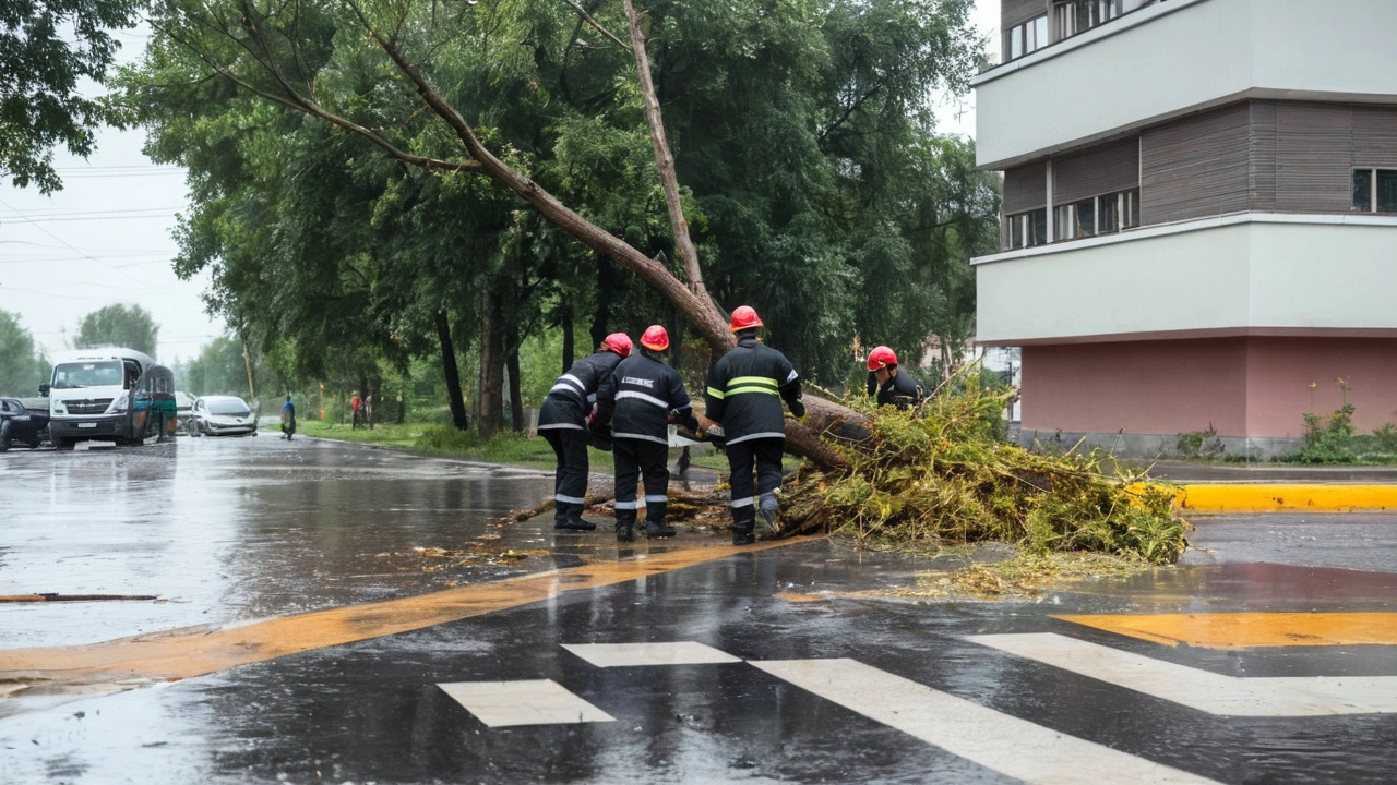
<instances>
[{"instance_id":1,"label":"long straight white crosswalk stripe slanting to the bottom edge","mask_svg":"<svg viewBox=\"0 0 1397 785\"><path fill-rule=\"evenodd\" d=\"M855 659L752 661L752 665L1024 782L1076 784L1084 777L1102 784L1213 782L1010 717Z\"/></svg>"}]
</instances>

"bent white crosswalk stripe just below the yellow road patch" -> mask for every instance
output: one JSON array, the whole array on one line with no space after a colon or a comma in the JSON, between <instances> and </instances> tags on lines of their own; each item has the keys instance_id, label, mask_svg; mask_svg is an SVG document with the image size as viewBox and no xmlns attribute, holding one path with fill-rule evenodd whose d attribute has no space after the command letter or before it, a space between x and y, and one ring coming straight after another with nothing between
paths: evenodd
<instances>
[{"instance_id":1,"label":"bent white crosswalk stripe just below the yellow road patch","mask_svg":"<svg viewBox=\"0 0 1397 785\"><path fill-rule=\"evenodd\" d=\"M1397 712L1397 676L1239 679L1055 633L972 636L967 640L1221 717Z\"/></svg>"}]
</instances>

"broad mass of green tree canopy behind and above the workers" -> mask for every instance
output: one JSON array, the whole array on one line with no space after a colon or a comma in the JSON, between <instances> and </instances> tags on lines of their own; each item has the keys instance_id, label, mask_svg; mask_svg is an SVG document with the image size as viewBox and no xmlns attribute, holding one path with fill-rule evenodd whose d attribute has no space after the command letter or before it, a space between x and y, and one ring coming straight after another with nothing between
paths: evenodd
<instances>
[{"instance_id":1,"label":"broad mass of green tree canopy behind and above the workers","mask_svg":"<svg viewBox=\"0 0 1397 785\"><path fill-rule=\"evenodd\" d=\"M650 3L697 293L620 3L584 20L563 0L159 0L122 85L149 154L191 173L177 270L210 270L211 309L289 346L268 351L288 373L455 337L478 346L483 399L542 330L570 346L574 328L697 314L718 348L711 295L838 380L855 337L916 358L930 331L970 330L965 261L997 239L997 189L929 106L978 66L968 6Z\"/></svg>"}]
</instances>

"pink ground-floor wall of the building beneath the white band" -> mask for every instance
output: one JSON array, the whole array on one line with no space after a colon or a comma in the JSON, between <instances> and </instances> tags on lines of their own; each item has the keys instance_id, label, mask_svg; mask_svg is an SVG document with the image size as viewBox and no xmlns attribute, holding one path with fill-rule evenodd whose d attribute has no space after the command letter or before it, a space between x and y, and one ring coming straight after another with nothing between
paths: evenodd
<instances>
[{"instance_id":1,"label":"pink ground-floor wall of the building beneath the white band","mask_svg":"<svg viewBox=\"0 0 1397 785\"><path fill-rule=\"evenodd\" d=\"M1354 423L1397 423L1397 339L1200 338L1023 348L1023 425L1034 430L1299 437L1344 379ZM1316 384L1313 392L1310 383Z\"/></svg>"}]
</instances>

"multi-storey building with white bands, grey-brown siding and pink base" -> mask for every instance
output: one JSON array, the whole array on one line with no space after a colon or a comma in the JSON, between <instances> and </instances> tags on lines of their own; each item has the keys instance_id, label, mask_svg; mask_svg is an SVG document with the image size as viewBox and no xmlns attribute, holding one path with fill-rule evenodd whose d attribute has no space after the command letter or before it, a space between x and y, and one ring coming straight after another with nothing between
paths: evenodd
<instances>
[{"instance_id":1,"label":"multi-storey building with white bands, grey-brown siding and pink base","mask_svg":"<svg viewBox=\"0 0 1397 785\"><path fill-rule=\"evenodd\" d=\"M1023 440L1397 422L1397 0L1002 0L1002 29L974 87L1003 250L974 264Z\"/></svg>"}]
</instances>

